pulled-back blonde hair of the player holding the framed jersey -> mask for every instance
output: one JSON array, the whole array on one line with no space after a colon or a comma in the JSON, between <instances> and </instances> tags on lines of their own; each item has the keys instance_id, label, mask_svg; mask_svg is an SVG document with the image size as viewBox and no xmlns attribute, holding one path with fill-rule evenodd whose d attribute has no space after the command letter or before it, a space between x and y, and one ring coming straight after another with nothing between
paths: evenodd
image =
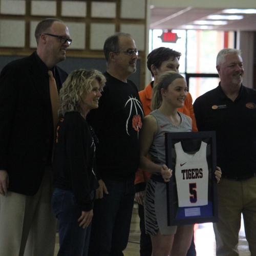
<instances>
[{"instance_id":1,"label":"pulled-back blonde hair of the player holding the framed jersey","mask_svg":"<svg viewBox=\"0 0 256 256\"><path fill-rule=\"evenodd\" d=\"M178 78L184 79L182 75L174 71L168 71L160 75L158 82L155 83L153 87L151 110L159 109L162 104L163 98L161 94L161 89L167 90L169 84L171 84L174 80Z\"/></svg>"}]
</instances>

